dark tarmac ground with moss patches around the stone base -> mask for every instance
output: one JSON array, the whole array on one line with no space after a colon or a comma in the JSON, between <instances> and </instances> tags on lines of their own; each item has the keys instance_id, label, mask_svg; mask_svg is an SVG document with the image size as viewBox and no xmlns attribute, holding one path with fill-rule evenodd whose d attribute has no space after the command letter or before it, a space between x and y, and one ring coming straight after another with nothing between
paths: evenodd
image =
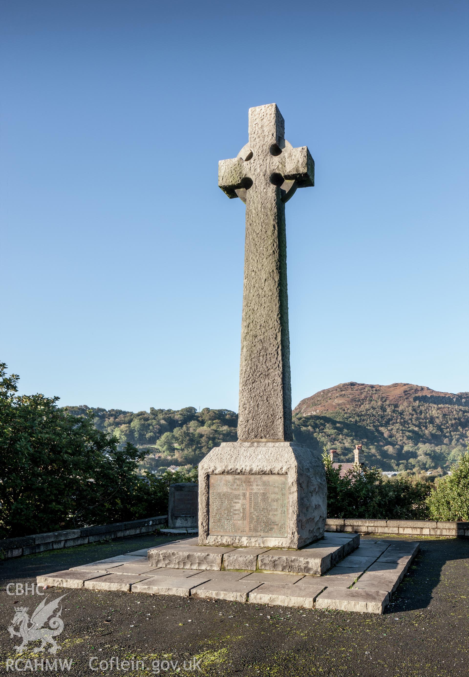
<instances>
[{"instance_id":1,"label":"dark tarmac ground with moss patches around the stone base","mask_svg":"<svg viewBox=\"0 0 469 677\"><path fill-rule=\"evenodd\" d=\"M14 610L24 606L30 614L42 599L8 595L8 583L31 584L41 573L167 540L139 536L3 561L0 670L6 673L18 657L14 646L19 638L10 638L7 630ZM57 638L58 653L34 654L39 644L30 644L18 668L30 674L41 672L43 665L45 671L46 659L57 658L71 660L65 672L73 675L468 677L469 540L426 538L421 544L422 551L382 616L64 590L65 627ZM57 590L51 588L51 598ZM97 670L91 669L90 659ZM121 661L128 661L128 667L124 663L122 668ZM9 668L8 674L14 672Z\"/></svg>"}]
</instances>

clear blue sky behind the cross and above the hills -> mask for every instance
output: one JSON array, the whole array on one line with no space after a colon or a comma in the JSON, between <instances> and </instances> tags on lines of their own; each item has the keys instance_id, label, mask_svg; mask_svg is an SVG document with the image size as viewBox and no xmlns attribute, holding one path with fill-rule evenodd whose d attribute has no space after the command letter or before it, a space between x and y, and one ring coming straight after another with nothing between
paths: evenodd
<instances>
[{"instance_id":1,"label":"clear blue sky behind the cross and above the hills","mask_svg":"<svg viewBox=\"0 0 469 677\"><path fill-rule=\"evenodd\" d=\"M294 404L469 390L468 4L3 0L0 358L62 404L238 409L244 204L277 103Z\"/></svg>"}]
</instances>

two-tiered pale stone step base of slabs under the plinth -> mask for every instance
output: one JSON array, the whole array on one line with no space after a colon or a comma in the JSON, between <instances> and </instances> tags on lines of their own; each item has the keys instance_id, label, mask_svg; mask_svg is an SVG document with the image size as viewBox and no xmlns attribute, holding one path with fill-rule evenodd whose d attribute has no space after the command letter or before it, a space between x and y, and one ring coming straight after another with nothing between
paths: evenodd
<instances>
[{"instance_id":1,"label":"two-tiered pale stone step base of slabs under the plinth","mask_svg":"<svg viewBox=\"0 0 469 677\"><path fill-rule=\"evenodd\" d=\"M330 546L332 547L332 546ZM303 550L265 550L255 554L257 563L264 554L280 552L280 561L290 557L289 565L298 568L303 556L303 567L311 558L329 548L303 548ZM339 547L342 547L339 545ZM382 552L382 544L367 542L367 547L376 548L374 554ZM242 603L280 605L317 609L342 609L360 613L382 613L388 600L395 592L411 561L418 552L418 543L393 542L393 550L384 544L384 552L378 556L348 556L339 565L332 567L326 575L308 573L276 573L275 571L230 571L220 569L198 569L189 567L173 568L148 567L143 556L116 556L91 565L74 567L68 571L56 571L37 577L38 584L61 588L86 588L88 590L109 590L122 592L146 592L148 594L174 594L204 599L223 599ZM183 542L166 544L154 548L162 559L168 556L178 559L189 556L192 562L200 564L200 552L204 556L219 558L236 555L239 550L256 548L219 548L217 546L187 546ZM223 554L219 552L223 550ZM263 548L261 548L263 550ZM215 551L215 553L213 552ZM139 551L137 551L139 552ZM195 554L194 554L195 553ZM247 553L251 556L253 553ZM300 556L301 555L301 556ZM330 552L328 552L330 556ZM318 560L319 561L319 560ZM181 560L177 561L177 565ZM206 565L207 562L205 561ZM210 564L210 562L208 562ZM146 569L144 569L146 565ZM347 566L349 565L349 566Z\"/></svg>"}]
</instances>

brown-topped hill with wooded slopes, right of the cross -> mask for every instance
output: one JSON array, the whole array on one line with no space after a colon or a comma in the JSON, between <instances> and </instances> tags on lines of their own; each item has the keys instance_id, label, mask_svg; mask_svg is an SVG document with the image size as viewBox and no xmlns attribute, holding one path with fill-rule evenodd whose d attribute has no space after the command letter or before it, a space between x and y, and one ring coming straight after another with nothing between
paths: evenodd
<instances>
[{"instance_id":1,"label":"brown-topped hill with wooded slopes, right of the cross","mask_svg":"<svg viewBox=\"0 0 469 677\"><path fill-rule=\"evenodd\" d=\"M363 444L368 464L383 470L448 468L469 440L469 393L442 393L412 383L340 383L294 408L294 436L339 462Z\"/></svg>"}]
</instances>

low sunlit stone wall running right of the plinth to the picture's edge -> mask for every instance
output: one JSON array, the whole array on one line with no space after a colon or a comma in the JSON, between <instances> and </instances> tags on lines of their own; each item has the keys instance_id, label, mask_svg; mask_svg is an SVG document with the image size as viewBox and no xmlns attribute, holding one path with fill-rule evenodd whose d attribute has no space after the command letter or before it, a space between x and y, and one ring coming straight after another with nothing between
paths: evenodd
<instances>
[{"instance_id":1,"label":"low sunlit stone wall running right of the plinth to the picture's edge","mask_svg":"<svg viewBox=\"0 0 469 677\"><path fill-rule=\"evenodd\" d=\"M469 522L432 522L408 519L326 519L326 531L357 533L401 533L403 536L446 536L469 538Z\"/></svg>"}]
</instances>

